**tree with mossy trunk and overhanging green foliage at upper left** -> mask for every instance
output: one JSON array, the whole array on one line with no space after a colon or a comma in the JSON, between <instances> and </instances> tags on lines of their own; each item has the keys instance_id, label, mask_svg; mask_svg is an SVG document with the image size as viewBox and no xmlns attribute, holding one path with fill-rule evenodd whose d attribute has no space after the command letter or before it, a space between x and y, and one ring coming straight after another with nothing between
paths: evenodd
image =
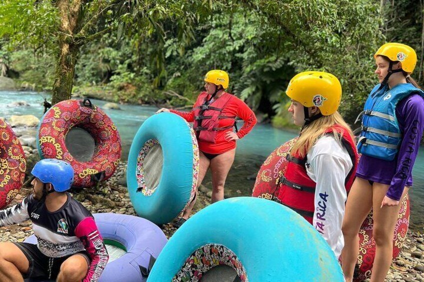
<instances>
[{"instance_id":1,"label":"tree with mossy trunk and overhanging green foliage at upper left","mask_svg":"<svg viewBox=\"0 0 424 282\"><path fill-rule=\"evenodd\" d=\"M187 40L191 24L208 10L209 5L195 0L4 0L0 36L8 36L14 44L32 43L35 48L43 44L57 54L54 104L70 98L75 64L87 42L114 28L119 35L146 31L163 36L165 18L175 20L179 37Z\"/></svg>"}]
</instances>

